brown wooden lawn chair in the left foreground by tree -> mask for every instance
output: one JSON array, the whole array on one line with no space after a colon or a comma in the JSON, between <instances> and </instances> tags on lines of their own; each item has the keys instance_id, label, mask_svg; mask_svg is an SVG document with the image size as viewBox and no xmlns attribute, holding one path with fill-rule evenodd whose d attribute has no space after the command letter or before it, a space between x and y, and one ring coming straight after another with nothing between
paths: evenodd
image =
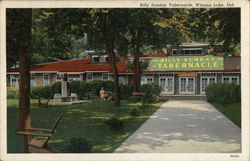
<instances>
[{"instance_id":1,"label":"brown wooden lawn chair in the left foreground by tree","mask_svg":"<svg viewBox=\"0 0 250 161\"><path fill-rule=\"evenodd\" d=\"M25 128L24 131L17 131L16 134L18 135L26 135L26 136L39 136L39 137L47 137L46 140L37 140L32 138L28 143L28 151L30 153L59 153L59 151L52 146L48 145L48 141L53 136L54 132L56 131L56 127L63 118L62 114L52 126L51 129L43 129L43 128ZM46 132L46 133L40 133Z\"/></svg>"}]
</instances>

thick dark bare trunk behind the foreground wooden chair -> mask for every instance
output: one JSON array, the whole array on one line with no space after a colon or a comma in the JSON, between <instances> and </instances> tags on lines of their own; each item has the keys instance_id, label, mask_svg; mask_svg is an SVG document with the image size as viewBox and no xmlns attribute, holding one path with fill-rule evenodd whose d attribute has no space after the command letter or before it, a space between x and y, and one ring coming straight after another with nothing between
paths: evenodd
<instances>
[{"instance_id":1,"label":"thick dark bare trunk behind the foreground wooden chair","mask_svg":"<svg viewBox=\"0 0 250 161\"><path fill-rule=\"evenodd\" d=\"M19 54L19 120L18 129L24 130L30 125L30 60L31 60L31 24L32 9L18 9L18 54ZM17 22L18 23L18 22ZM24 152L28 152L29 137L24 136Z\"/></svg>"}]
</instances>

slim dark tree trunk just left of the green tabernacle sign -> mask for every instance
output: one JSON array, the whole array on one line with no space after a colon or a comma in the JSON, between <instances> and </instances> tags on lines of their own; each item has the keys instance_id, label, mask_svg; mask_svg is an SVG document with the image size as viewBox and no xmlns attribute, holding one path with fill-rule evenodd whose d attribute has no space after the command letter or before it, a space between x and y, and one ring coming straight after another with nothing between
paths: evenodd
<instances>
[{"instance_id":1,"label":"slim dark tree trunk just left of the green tabernacle sign","mask_svg":"<svg viewBox=\"0 0 250 161\"><path fill-rule=\"evenodd\" d=\"M140 88L140 46L141 46L141 29L136 32L135 51L134 51L134 91L138 92Z\"/></svg>"}]
</instances>

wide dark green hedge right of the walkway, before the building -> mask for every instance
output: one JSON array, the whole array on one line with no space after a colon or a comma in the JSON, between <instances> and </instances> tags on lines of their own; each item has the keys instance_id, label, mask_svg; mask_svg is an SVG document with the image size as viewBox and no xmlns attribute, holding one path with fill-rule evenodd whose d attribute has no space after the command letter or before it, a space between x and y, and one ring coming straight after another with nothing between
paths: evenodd
<instances>
[{"instance_id":1,"label":"wide dark green hedge right of the walkway, before the building","mask_svg":"<svg viewBox=\"0 0 250 161\"><path fill-rule=\"evenodd\" d=\"M210 84L206 88L207 99L221 104L241 102L241 88L236 84Z\"/></svg>"}]
</instances>

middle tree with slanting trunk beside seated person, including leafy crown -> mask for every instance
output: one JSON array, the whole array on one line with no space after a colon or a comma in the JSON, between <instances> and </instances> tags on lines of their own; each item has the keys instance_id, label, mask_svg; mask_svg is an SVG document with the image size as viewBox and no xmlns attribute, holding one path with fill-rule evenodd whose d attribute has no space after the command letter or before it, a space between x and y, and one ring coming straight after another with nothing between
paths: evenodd
<instances>
[{"instance_id":1,"label":"middle tree with slanting trunk beside seated person, including leafy crown","mask_svg":"<svg viewBox=\"0 0 250 161\"><path fill-rule=\"evenodd\" d=\"M126 9L90 9L90 24L87 31L88 45L93 48L106 49L113 70L115 86L115 105L120 105L119 75L117 70L119 40L123 39L126 27ZM122 17L122 18L121 18ZM117 49L117 52L115 52ZM124 50L123 50L124 51ZM122 53L121 53L122 54Z\"/></svg>"}]
</instances>

